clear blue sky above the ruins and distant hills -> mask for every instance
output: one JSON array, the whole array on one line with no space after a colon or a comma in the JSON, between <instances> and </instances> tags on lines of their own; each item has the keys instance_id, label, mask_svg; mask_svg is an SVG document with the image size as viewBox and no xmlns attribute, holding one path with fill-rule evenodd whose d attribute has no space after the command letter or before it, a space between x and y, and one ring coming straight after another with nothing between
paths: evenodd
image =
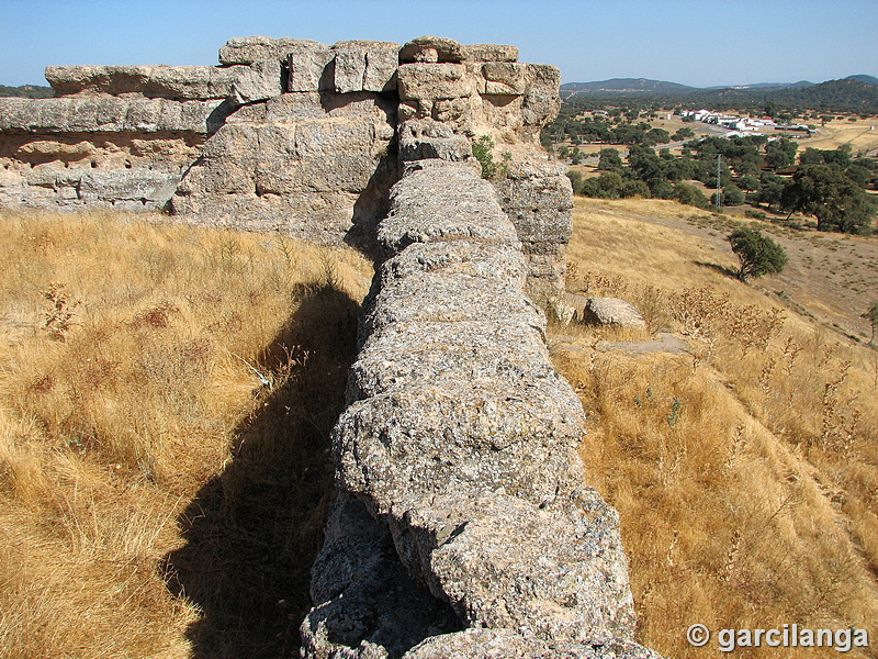
<instances>
[{"instance_id":1,"label":"clear blue sky above the ruins and distant hills","mask_svg":"<svg viewBox=\"0 0 878 659\"><path fill-rule=\"evenodd\" d=\"M878 76L878 0L0 0L0 85L66 64L205 64L233 36L507 43L564 81Z\"/></svg>"}]
</instances>

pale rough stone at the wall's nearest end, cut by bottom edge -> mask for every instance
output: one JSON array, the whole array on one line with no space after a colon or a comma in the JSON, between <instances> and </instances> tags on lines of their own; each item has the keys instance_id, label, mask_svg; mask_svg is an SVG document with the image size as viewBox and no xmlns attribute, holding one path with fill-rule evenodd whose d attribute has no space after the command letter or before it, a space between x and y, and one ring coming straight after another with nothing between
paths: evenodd
<instances>
[{"instance_id":1,"label":"pale rough stone at the wall's nearest end, cut by bottom edge","mask_svg":"<svg viewBox=\"0 0 878 659\"><path fill-rule=\"evenodd\" d=\"M524 637L511 629L470 628L434 636L403 659L661 659L654 651L624 638L588 644L553 643Z\"/></svg>"}]
</instances>

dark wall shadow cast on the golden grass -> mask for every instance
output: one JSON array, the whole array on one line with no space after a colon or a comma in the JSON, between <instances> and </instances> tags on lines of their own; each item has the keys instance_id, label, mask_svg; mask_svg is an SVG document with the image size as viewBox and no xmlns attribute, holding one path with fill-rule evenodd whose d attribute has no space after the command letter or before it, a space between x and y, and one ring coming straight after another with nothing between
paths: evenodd
<instances>
[{"instance_id":1,"label":"dark wall shadow cast on the golden grass","mask_svg":"<svg viewBox=\"0 0 878 659\"><path fill-rule=\"evenodd\" d=\"M299 293L261 360L283 378L237 428L233 461L180 515L187 544L165 560L169 590L203 612L187 632L198 659L299 656L360 311L331 283Z\"/></svg>"}]
</instances>

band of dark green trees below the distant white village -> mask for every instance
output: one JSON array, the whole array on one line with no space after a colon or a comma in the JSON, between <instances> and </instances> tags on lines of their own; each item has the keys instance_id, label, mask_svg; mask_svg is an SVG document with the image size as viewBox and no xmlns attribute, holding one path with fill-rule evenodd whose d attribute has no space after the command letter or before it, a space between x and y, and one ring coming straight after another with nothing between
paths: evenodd
<instances>
[{"instance_id":1,"label":"band of dark green trees below the distant white village","mask_svg":"<svg viewBox=\"0 0 878 659\"><path fill-rule=\"evenodd\" d=\"M876 199L867 190L878 189L878 161L854 158L848 146L798 154L798 144L786 137L705 137L687 142L679 157L632 145L622 161L617 149L603 148L597 169L600 174L590 178L572 171L574 192L604 199L676 199L703 209L718 202L750 203L788 217L795 212L813 215L820 231L853 234L871 233L876 214ZM686 182L700 181L713 190L718 174L719 199L717 192L708 198Z\"/></svg>"}]
</instances>

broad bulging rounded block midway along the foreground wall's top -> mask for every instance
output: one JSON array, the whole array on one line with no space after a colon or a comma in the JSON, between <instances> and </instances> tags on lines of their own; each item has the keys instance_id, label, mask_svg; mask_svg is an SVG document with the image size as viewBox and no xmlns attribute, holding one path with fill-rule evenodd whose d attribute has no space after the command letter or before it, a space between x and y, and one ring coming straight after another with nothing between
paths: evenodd
<instances>
[{"instance_id":1,"label":"broad bulging rounded block midway along the foreground wall's top","mask_svg":"<svg viewBox=\"0 0 878 659\"><path fill-rule=\"evenodd\" d=\"M395 517L473 489L544 504L569 480L582 437L582 409L564 384L402 383L358 401L334 431L340 482L373 514Z\"/></svg>"}]
</instances>

